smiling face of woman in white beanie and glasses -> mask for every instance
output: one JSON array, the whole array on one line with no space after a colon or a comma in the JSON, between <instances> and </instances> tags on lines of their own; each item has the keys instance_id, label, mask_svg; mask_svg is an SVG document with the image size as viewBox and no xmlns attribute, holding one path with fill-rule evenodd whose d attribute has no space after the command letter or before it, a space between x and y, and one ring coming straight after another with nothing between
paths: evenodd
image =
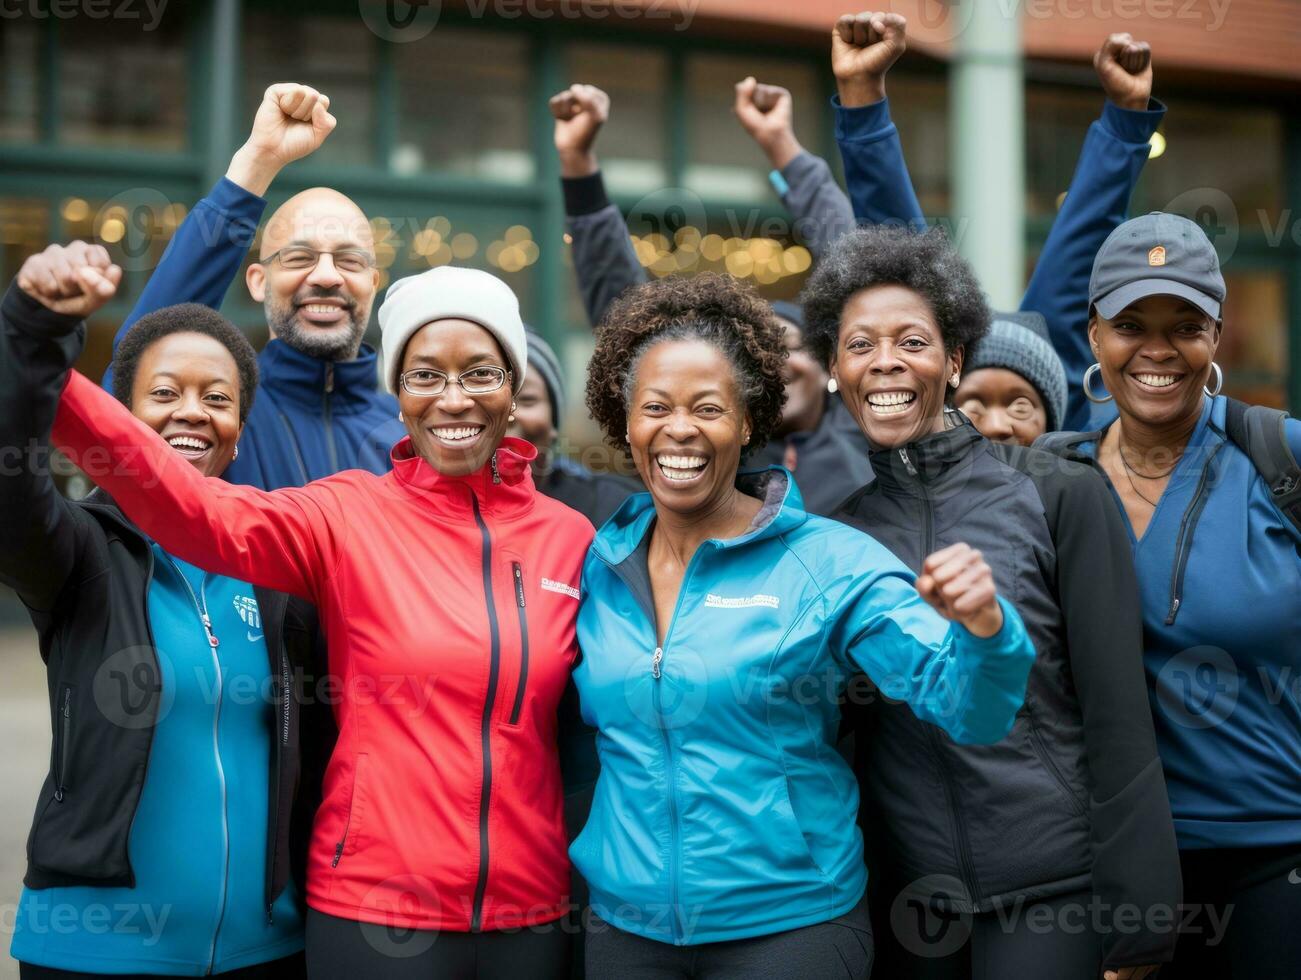
<instances>
[{"instance_id":1,"label":"smiling face of woman in white beanie and glasses","mask_svg":"<svg viewBox=\"0 0 1301 980\"><path fill-rule=\"evenodd\" d=\"M402 372L441 371L472 376L475 368L510 371L497 338L470 320L435 320L416 331L402 353ZM467 379L468 380L468 379ZM448 476L475 472L497 452L510 416L510 375L487 394L466 394L448 383L441 394L411 394L398 388L398 407L416 454Z\"/></svg>"}]
</instances>

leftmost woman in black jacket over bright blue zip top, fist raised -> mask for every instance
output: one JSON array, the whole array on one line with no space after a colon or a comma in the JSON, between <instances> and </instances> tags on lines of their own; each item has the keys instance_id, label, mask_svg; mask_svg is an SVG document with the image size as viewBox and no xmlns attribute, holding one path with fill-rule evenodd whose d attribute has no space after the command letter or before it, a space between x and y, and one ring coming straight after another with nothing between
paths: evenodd
<instances>
[{"instance_id":1,"label":"leftmost woman in black jacket over bright blue zip top, fist raised","mask_svg":"<svg viewBox=\"0 0 1301 980\"><path fill-rule=\"evenodd\" d=\"M319 773L299 729L324 751L329 728L299 694L315 610L173 558L104 493L69 502L49 476L82 320L120 279L100 246L51 246L0 305L0 445L25 453L0 472L0 580L40 635L53 729L10 951L23 977L302 976ZM235 327L160 310L113 368L137 418L225 470L258 383Z\"/></svg>"}]
</instances>

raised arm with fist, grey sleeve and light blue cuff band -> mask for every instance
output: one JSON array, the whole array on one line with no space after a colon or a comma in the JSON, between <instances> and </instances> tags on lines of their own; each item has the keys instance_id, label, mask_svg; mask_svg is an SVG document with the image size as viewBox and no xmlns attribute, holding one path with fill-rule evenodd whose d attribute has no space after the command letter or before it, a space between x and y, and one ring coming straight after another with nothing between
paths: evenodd
<instances>
[{"instance_id":1,"label":"raised arm with fist, grey sleeve and light blue cuff band","mask_svg":"<svg viewBox=\"0 0 1301 980\"><path fill-rule=\"evenodd\" d=\"M796 139L790 91L745 78L736 83L732 112L773 165L768 180L791 212L795 236L818 258L853 228L853 208L826 160Z\"/></svg>"}]
</instances>

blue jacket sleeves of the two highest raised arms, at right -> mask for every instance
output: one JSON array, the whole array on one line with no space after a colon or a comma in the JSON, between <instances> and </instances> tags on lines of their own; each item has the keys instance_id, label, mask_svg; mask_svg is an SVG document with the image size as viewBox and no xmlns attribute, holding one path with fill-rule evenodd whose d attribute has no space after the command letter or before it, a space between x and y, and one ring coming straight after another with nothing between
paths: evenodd
<instances>
[{"instance_id":1,"label":"blue jacket sleeves of the two highest raised arms, at right","mask_svg":"<svg viewBox=\"0 0 1301 980\"><path fill-rule=\"evenodd\" d=\"M890 121L890 103L847 109L834 98L835 138L844 161L844 182L859 221L924 228L917 195L903 159L899 131ZM1151 100L1147 109L1121 109L1107 102L1089 126L1066 200L1053 221L1034 275L1021 298L1021 310L1043 315L1049 337L1067 377L1063 429L1092 429L1115 418L1110 405L1084 397L1081 380L1093 363L1085 325L1089 321L1089 275L1102 242L1127 217L1142 165L1166 107Z\"/></svg>"}]
</instances>

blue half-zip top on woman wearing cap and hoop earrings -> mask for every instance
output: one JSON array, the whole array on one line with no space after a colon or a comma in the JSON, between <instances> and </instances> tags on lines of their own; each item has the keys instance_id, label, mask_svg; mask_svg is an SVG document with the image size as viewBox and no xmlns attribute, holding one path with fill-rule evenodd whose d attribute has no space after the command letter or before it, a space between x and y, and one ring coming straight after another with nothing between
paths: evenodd
<instances>
[{"instance_id":1,"label":"blue half-zip top on woman wearing cap and hoop earrings","mask_svg":"<svg viewBox=\"0 0 1301 980\"><path fill-rule=\"evenodd\" d=\"M1125 517L1157 747L1181 849L1301 845L1301 535L1224 411L1205 400L1142 538ZM1092 459L1102 435L1046 442Z\"/></svg>"}]
</instances>

